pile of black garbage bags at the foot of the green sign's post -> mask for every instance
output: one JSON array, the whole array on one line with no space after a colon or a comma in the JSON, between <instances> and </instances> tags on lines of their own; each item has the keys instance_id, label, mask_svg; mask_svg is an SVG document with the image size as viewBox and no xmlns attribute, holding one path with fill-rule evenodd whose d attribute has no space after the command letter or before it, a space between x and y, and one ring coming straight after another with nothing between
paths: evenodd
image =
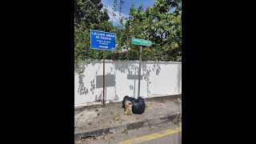
<instances>
[{"instance_id":1,"label":"pile of black garbage bags at the foot of the green sign's post","mask_svg":"<svg viewBox=\"0 0 256 144\"><path fill-rule=\"evenodd\" d=\"M144 99L142 97L132 98L129 96L125 96L122 100L122 108L125 108L126 101L130 101L133 104L132 111L134 114L143 114L146 108L146 104L144 102Z\"/></svg>"}]
</instances>

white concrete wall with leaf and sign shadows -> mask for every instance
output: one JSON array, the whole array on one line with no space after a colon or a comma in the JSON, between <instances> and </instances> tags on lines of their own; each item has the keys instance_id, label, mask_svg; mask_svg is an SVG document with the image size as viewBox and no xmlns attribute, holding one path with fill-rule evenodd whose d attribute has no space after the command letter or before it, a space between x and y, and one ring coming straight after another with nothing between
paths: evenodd
<instances>
[{"instance_id":1,"label":"white concrete wall with leaf and sign shadows","mask_svg":"<svg viewBox=\"0 0 256 144\"><path fill-rule=\"evenodd\" d=\"M81 62L74 71L74 104L82 106L102 99L102 61ZM142 62L142 98L182 93L182 62ZM138 95L138 61L105 61L106 101L122 101Z\"/></svg>"}]
</instances>

